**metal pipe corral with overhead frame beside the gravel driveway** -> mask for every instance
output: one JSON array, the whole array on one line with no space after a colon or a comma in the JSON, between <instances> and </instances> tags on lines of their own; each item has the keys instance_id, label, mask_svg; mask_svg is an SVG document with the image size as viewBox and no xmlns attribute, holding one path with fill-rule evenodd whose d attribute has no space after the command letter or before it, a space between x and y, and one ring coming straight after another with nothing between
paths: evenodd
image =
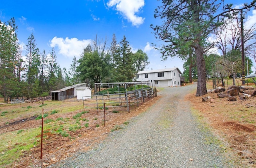
<instances>
[{"instance_id":1,"label":"metal pipe corral with overhead frame beside the gravel driveway","mask_svg":"<svg viewBox=\"0 0 256 168\"><path fill-rule=\"evenodd\" d=\"M101 88L101 92L97 92ZM95 83L95 94L83 97L84 111L128 111L155 96L151 82Z\"/></svg>"}]
</instances>

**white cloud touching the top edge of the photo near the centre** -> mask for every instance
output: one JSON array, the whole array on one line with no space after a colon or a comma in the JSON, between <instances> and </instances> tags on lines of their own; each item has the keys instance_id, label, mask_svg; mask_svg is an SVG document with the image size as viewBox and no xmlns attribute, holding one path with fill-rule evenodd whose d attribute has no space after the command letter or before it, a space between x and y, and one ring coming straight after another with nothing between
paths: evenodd
<instances>
[{"instance_id":1,"label":"white cloud touching the top edge of the photo near the centre","mask_svg":"<svg viewBox=\"0 0 256 168\"><path fill-rule=\"evenodd\" d=\"M107 5L108 7L116 6L116 10L121 12L134 26L138 27L145 20L145 18L136 15L145 5L144 0L109 0Z\"/></svg>"}]
</instances>

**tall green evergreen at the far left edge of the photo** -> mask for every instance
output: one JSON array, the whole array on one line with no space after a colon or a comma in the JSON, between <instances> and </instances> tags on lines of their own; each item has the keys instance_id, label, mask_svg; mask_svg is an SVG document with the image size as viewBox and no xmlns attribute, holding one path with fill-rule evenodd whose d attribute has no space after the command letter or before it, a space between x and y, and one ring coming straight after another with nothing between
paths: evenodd
<instances>
[{"instance_id":1,"label":"tall green evergreen at the far left edge of the photo","mask_svg":"<svg viewBox=\"0 0 256 168\"><path fill-rule=\"evenodd\" d=\"M19 45L16 30L14 18L7 24L0 21L0 93L4 95L5 102L18 94L16 59Z\"/></svg>"}]
</instances>

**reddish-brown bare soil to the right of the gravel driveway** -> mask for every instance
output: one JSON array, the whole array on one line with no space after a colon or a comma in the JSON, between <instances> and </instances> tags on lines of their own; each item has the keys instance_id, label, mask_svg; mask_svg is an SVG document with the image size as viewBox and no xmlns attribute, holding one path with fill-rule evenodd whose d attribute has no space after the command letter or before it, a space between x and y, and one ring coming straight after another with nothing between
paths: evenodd
<instances>
[{"instance_id":1,"label":"reddish-brown bare soil to the right of the gravel driveway","mask_svg":"<svg viewBox=\"0 0 256 168\"><path fill-rule=\"evenodd\" d=\"M232 152L232 160L242 167L256 167L256 98L230 102L228 98L218 98L217 93L203 97L206 96L211 100L202 102L202 97L194 94L188 94L186 99Z\"/></svg>"}]
</instances>

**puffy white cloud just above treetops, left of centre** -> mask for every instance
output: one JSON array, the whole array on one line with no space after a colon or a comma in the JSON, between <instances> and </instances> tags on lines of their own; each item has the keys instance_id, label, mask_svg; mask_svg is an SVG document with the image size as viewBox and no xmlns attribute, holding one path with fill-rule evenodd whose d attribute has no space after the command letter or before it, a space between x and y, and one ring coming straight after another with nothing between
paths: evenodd
<instances>
[{"instance_id":1,"label":"puffy white cloud just above treetops, left of centre","mask_svg":"<svg viewBox=\"0 0 256 168\"><path fill-rule=\"evenodd\" d=\"M82 54L83 49L87 47L88 44L92 44L92 40L78 40L77 38L69 39L66 37L63 39L62 37L54 37L50 41L51 47L57 47L58 53L66 56L66 57L74 57Z\"/></svg>"}]
</instances>

